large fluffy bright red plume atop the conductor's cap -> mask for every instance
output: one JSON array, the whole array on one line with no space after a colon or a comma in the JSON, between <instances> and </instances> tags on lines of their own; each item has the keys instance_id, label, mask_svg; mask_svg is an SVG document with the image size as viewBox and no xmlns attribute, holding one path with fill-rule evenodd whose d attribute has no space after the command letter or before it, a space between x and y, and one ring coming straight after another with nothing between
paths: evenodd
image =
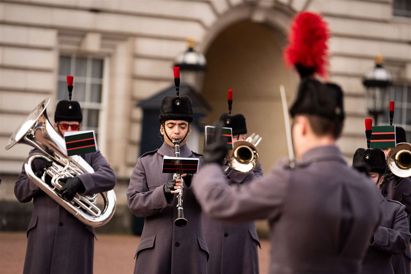
<instances>
[{"instance_id":1,"label":"large fluffy bright red plume atop the conductor's cap","mask_svg":"<svg viewBox=\"0 0 411 274\"><path fill-rule=\"evenodd\" d=\"M312 12L300 12L294 17L288 37L289 45L284 50L287 67L296 64L303 68L312 68L313 74L327 77L328 46L330 37L327 22L322 16Z\"/></svg>"}]
</instances>

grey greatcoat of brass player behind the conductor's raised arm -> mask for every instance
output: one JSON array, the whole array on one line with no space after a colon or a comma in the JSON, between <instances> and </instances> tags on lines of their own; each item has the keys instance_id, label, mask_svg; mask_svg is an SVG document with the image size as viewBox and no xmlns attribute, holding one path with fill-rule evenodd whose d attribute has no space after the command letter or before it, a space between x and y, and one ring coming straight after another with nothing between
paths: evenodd
<instances>
[{"instance_id":1,"label":"grey greatcoat of brass player behind the conductor's raised arm","mask_svg":"<svg viewBox=\"0 0 411 274\"><path fill-rule=\"evenodd\" d=\"M238 173L229 168L224 175L229 185L247 184L262 176L260 163L250 173ZM259 273L257 245L260 246L260 242L254 221L233 224L216 221L203 214L203 230L210 252L210 259L207 262L208 274Z\"/></svg>"}]
</instances>

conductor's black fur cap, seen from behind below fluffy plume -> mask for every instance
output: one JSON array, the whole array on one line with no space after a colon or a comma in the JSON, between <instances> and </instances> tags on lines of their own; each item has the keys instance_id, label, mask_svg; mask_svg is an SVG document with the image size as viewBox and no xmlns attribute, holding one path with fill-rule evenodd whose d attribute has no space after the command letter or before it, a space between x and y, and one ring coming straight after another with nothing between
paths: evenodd
<instances>
[{"instance_id":1,"label":"conductor's black fur cap, seen from behind below fluffy plume","mask_svg":"<svg viewBox=\"0 0 411 274\"><path fill-rule=\"evenodd\" d=\"M345 118L342 89L333 83L302 79L290 113L291 117L296 114L314 114L342 122Z\"/></svg>"}]
</instances>

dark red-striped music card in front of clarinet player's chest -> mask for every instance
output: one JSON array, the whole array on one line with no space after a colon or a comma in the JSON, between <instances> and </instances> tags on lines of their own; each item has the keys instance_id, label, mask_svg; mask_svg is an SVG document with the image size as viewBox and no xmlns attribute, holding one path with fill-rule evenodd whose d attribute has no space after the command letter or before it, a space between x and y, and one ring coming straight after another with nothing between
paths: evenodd
<instances>
[{"instance_id":1,"label":"dark red-striped music card in front of clarinet player's chest","mask_svg":"<svg viewBox=\"0 0 411 274\"><path fill-rule=\"evenodd\" d=\"M199 169L198 158L168 157L163 158L163 173L196 174Z\"/></svg>"}]
</instances>

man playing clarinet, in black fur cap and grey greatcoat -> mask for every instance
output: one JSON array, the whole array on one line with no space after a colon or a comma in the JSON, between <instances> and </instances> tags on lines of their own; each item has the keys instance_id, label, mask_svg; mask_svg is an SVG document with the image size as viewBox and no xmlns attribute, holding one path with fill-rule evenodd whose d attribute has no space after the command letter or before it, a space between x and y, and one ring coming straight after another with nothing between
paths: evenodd
<instances>
[{"instance_id":1,"label":"man playing clarinet, in black fur cap and grey greatcoat","mask_svg":"<svg viewBox=\"0 0 411 274\"><path fill-rule=\"evenodd\" d=\"M178 69L174 68L177 90ZM207 273L209 255L203 235L201 207L192 192L192 176L183 174L181 181L173 179L171 173L162 173L163 157L175 156L175 140L180 145L180 157L201 157L186 144L192 121L188 96L164 97L159 114L164 143L159 149L141 155L133 170L127 189L128 206L134 215L145 217L134 256L134 273ZM178 217L175 191L181 187L184 187L184 217L188 224L178 227L174 224Z\"/></svg>"}]
</instances>

